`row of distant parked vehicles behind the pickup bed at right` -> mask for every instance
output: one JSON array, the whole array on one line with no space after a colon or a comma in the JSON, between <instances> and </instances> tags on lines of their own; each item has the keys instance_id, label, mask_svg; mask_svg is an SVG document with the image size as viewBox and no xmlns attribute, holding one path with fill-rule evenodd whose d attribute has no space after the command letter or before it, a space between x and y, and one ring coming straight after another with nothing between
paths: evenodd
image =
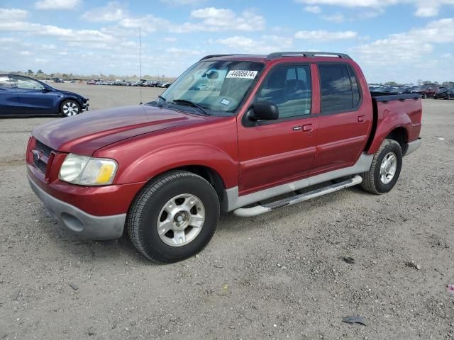
<instances>
[{"instance_id":1,"label":"row of distant parked vehicles behind the pickup bed at right","mask_svg":"<svg viewBox=\"0 0 454 340\"><path fill-rule=\"evenodd\" d=\"M380 94L420 94L421 98L454 98L454 88L438 85L423 85L423 86L380 86L370 85L371 92Z\"/></svg>"}]
</instances>

